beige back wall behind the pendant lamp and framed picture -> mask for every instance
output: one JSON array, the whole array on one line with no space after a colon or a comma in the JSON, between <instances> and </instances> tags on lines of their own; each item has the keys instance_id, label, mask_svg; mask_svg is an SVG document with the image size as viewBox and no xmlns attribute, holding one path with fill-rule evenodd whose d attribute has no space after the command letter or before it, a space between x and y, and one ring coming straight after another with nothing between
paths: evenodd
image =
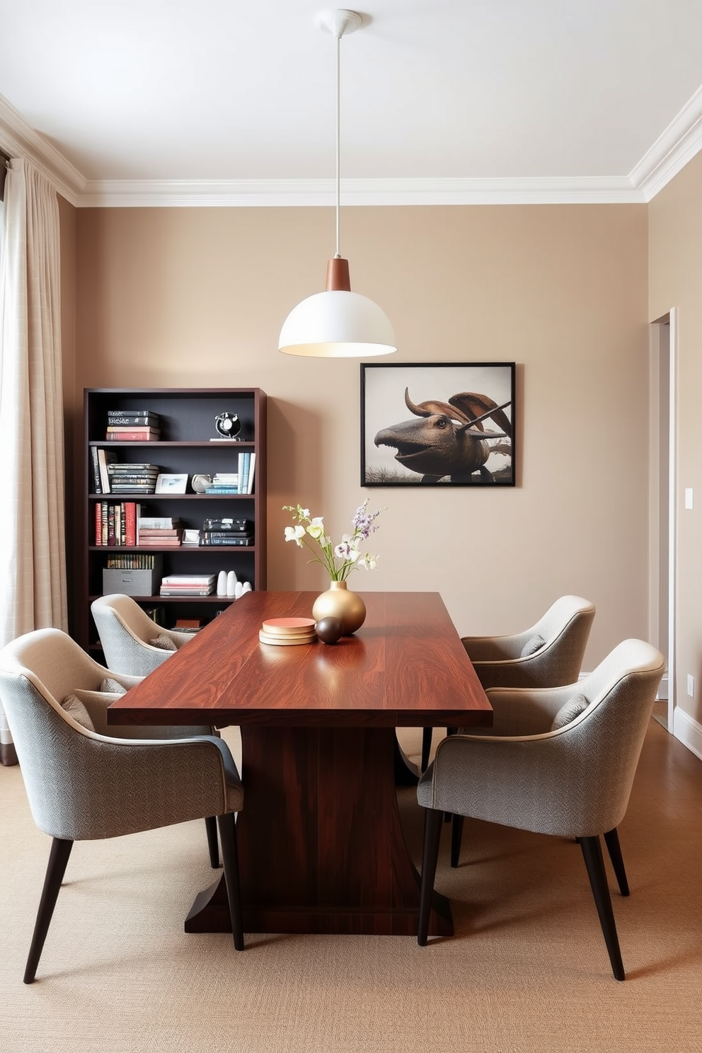
<instances>
[{"instance_id":1,"label":"beige back wall behind the pendant lamp and framed picture","mask_svg":"<svg viewBox=\"0 0 702 1053\"><path fill-rule=\"evenodd\" d=\"M421 493L360 486L358 361L276 350L322 287L330 210L79 210L77 224L77 388L267 392L268 588L324 584L284 543L281 505L339 535L369 496L387 511L360 590L438 590L462 634L582 594L598 607L586 668L646 635L645 205L342 212L353 285L393 319L395 359L518 363L517 488Z\"/></svg>"}]
</instances>

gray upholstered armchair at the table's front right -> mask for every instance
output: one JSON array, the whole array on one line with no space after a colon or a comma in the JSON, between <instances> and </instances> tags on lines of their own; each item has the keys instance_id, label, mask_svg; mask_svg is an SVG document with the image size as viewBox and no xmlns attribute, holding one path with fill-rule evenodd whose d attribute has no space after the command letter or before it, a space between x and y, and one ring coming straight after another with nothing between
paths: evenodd
<instances>
[{"instance_id":1,"label":"gray upholstered armchair at the table's front right","mask_svg":"<svg viewBox=\"0 0 702 1053\"><path fill-rule=\"evenodd\" d=\"M439 743L417 788L426 809L421 946L427 940L442 818L449 812L579 840L613 973L624 979L600 834L616 832L624 817L663 668L656 648L624 640L578 683L492 691L498 732L500 721L514 727L519 720L521 734L459 733ZM539 730L546 721L548 730Z\"/></svg>"}]
</instances>

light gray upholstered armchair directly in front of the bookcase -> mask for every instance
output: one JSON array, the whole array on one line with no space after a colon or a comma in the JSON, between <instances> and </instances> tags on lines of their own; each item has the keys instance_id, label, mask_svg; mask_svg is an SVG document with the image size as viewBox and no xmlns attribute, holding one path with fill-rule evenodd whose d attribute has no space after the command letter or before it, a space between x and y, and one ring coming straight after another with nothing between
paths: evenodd
<instances>
[{"instance_id":1,"label":"light gray upholstered armchair directly in front of the bookcase","mask_svg":"<svg viewBox=\"0 0 702 1053\"><path fill-rule=\"evenodd\" d=\"M105 662L116 673L147 676L178 648L193 639L190 633L164 629L148 617L136 600L122 593L100 596L91 604ZM158 640L158 643L152 641Z\"/></svg>"}]
</instances>

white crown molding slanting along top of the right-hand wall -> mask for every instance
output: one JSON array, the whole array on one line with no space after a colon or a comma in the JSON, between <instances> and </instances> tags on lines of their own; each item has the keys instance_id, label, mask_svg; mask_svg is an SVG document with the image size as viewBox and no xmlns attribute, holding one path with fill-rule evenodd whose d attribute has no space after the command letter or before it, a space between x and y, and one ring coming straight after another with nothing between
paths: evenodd
<instances>
[{"instance_id":1,"label":"white crown molding slanting along top of the right-hand wall","mask_svg":"<svg viewBox=\"0 0 702 1053\"><path fill-rule=\"evenodd\" d=\"M628 176L631 185L643 192L646 201L651 201L700 150L702 86L631 168Z\"/></svg>"}]
</instances>

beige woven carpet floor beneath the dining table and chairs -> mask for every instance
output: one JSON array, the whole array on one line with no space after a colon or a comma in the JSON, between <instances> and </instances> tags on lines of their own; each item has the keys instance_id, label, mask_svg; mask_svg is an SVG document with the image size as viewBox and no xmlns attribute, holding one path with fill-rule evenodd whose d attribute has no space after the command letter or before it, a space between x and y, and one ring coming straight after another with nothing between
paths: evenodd
<instances>
[{"instance_id":1,"label":"beige woven carpet floor beneath the dining table and chairs","mask_svg":"<svg viewBox=\"0 0 702 1053\"><path fill-rule=\"evenodd\" d=\"M418 752L416 736L405 741ZM204 823L78 843L39 965L21 981L49 839L0 769L0 1050L20 1053L699 1053L702 761L651 721L620 828L611 977L577 845L467 822L438 886L457 935L186 935L210 881ZM403 815L421 833L412 791Z\"/></svg>"}]
</instances>

